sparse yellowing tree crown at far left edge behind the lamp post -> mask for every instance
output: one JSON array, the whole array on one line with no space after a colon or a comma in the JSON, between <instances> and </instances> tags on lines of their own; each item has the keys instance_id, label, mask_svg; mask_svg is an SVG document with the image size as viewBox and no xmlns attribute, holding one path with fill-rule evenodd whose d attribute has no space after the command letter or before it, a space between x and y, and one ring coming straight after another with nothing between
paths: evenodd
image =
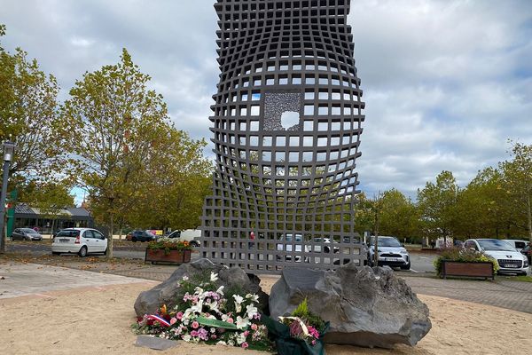
<instances>
[{"instance_id":1,"label":"sparse yellowing tree crown at far left edge behind the lamp post","mask_svg":"<svg viewBox=\"0 0 532 355\"><path fill-rule=\"evenodd\" d=\"M0 36L4 33L0 26ZM10 176L19 183L57 177L64 165L58 128L67 123L59 115L58 93L55 77L27 59L26 51L10 54L0 47L0 141L17 145Z\"/></svg>"}]
</instances>

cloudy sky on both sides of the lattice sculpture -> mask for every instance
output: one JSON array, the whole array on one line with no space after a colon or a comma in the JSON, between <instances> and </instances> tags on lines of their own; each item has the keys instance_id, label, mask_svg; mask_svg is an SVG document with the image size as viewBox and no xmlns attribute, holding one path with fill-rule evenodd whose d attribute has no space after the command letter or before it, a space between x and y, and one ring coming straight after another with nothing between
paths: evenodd
<instances>
[{"instance_id":1,"label":"cloudy sky on both sides of the lattice sculpture","mask_svg":"<svg viewBox=\"0 0 532 355\"><path fill-rule=\"evenodd\" d=\"M61 99L126 47L176 126L210 138L213 3L0 0L2 43L56 75ZM509 157L508 138L532 144L532 1L351 0L348 21L366 102L361 190L415 198L442 170L466 185Z\"/></svg>"}]
</instances>

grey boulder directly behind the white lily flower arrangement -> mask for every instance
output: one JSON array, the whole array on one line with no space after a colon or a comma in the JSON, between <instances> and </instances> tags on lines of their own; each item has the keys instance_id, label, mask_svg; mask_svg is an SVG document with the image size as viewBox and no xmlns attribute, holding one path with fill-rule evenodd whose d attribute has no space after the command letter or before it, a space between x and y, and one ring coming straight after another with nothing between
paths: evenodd
<instances>
[{"instance_id":1,"label":"grey boulder directly behind the white lily flower arrangement","mask_svg":"<svg viewBox=\"0 0 532 355\"><path fill-rule=\"evenodd\" d=\"M225 289L231 286L239 286L243 289L243 292L257 294L259 296L259 309L262 312L269 313L268 295L262 291L259 285L261 280L257 276L246 274L239 267L228 268L220 264L213 264L208 259L199 259L192 263L179 265L168 280L148 291L142 292L135 302L137 316L142 317L145 314L153 314L157 312L161 304L167 304L167 306L172 307L176 304L176 297L179 294L179 281L183 280L184 276L193 278L194 275L204 272L217 273L218 280L216 283L218 286L225 286Z\"/></svg>"}]
</instances>

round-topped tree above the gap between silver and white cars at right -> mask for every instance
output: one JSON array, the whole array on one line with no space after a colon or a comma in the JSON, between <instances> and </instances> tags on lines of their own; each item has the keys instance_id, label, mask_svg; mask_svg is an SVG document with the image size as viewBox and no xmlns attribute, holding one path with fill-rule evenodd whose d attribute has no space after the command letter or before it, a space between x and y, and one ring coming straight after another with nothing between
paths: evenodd
<instances>
[{"instance_id":1,"label":"round-topped tree above the gap between silver and white cars at right","mask_svg":"<svg viewBox=\"0 0 532 355\"><path fill-rule=\"evenodd\" d=\"M450 171L442 171L435 184L427 182L422 190L418 190L421 223L427 236L442 236L447 244L447 237L455 228L458 192Z\"/></svg>"}]
</instances>

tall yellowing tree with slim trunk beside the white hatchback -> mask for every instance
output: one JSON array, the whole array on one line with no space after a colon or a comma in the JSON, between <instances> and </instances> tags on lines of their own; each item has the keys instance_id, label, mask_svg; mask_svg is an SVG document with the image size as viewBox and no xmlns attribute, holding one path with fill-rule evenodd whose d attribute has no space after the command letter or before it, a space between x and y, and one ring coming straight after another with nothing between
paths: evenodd
<instances>
[{"instance_id":1,"label":"tall yellowing tree with slim trunk beside the white hatchback","mask_svg":"<svg viewBox=\"0 0 532 355\"><path fill-rule=\"evenodd\" d=\"M168 110L162 96L148 90L126 49L116 65L85 73L76 81L63 114L74 177L90 193L91 209L109 228L107 256L113 257L114 219L141 190L147 162L165 146Z\"/></svg>"}]
</instances>

